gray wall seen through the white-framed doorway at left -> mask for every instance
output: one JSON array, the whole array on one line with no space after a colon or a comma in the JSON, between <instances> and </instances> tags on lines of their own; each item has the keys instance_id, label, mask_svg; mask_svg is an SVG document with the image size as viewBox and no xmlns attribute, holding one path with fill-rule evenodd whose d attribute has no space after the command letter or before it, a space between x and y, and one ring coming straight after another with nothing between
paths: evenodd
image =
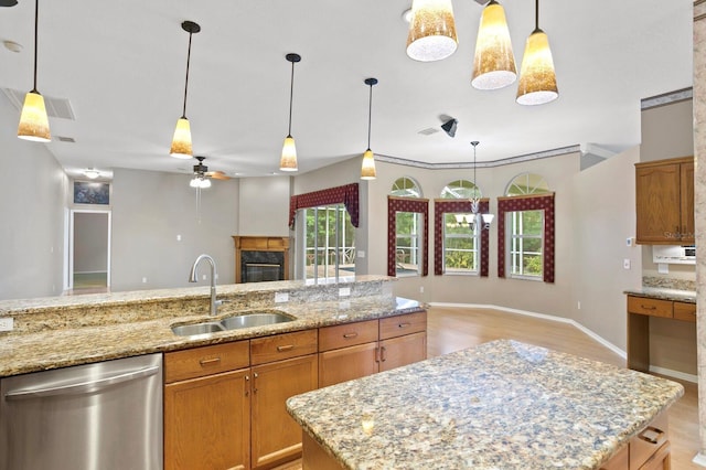
<instances>
[{"instance_id":1,"label":"gray wall seen through the white-framed doorway at left","mask_svg":"<svg viewBox=\"0 0 706 470\"><path fill-rule=\"evenodd\" d=\"M108 214L74 213L74 273L108 269Z\"/></svg>"}]
</instances>

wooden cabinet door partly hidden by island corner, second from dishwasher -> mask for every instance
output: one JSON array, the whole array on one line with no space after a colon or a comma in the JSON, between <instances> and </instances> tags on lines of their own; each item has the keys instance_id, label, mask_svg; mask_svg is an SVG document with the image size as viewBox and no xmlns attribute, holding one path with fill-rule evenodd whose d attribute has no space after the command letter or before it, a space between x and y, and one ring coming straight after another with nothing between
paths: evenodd
<instances>
[{"instance_id":1,"label":"wooden cabinet door partly hidden by island corner, second from dishwasher","mask_svg":"<svg viewBox=\"0 0 706 470\"><path fill-rule=\"evenodd\" d=\"M287 398L317 388L317 354L253 367L253 468L301 455L301 427L289 416Z\"/></svg>"}]
</instances>

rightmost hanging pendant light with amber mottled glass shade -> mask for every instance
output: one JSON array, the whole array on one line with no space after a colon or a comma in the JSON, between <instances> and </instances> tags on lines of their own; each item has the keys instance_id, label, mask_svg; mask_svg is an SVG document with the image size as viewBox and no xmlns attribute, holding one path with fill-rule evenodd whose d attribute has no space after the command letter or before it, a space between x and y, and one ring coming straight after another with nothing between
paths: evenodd
<instances>
[{"instance_id":1,"label":"rightmost hanging pendant light with amber mottled glass shade","mask_svg":"<svg viewBox=\"0 0 706 470\"><path fill-rule=\"evenodd\" d=\"M539 0L535 1L535 29L527 38L522 57L517 103L543 105L559 97L549 38L539 29Z\"/></svg>"}]
</instances>

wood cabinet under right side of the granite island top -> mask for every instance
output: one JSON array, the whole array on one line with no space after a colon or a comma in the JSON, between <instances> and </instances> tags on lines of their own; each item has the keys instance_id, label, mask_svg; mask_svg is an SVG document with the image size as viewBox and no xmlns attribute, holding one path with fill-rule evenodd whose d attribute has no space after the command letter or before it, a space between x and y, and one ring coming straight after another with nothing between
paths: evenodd
<instances>
[{"instance_id":1,"label":"wood cabinet under right side of the granite island top","mask_svg":"<svg viewBox=\"0 0 706 470\"><path fill-rule=\"evenodd\" d=\"M638 432L601 470L670 470L668 421L662 413Z\"/></svg>"}]
</instances>

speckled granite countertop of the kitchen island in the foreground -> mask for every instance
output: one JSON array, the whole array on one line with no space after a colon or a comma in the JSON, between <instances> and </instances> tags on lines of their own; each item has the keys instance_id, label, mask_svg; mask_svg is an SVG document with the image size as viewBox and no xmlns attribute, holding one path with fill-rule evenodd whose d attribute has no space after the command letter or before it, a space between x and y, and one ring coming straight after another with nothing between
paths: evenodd
<instances>
[{"instance_id":1,"label":"speckled granite countertop of the kitchen island in the foreground","mask_svg":"<svg viewBox=\"0 0 706 470\"><path fill-rule=\"evenodd\" d=\"M596 469L683 394L667 380L500 340L287 408L347 469Z\"/></svg>"}]
</instances>

